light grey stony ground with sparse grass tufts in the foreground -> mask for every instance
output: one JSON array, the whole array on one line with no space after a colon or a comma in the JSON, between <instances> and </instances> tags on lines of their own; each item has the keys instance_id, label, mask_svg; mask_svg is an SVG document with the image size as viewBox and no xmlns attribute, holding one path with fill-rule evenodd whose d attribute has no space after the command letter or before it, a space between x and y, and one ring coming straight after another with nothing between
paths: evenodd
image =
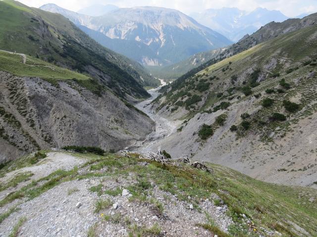
<instances>
[{"instance_id":1,"label":"light grey stony ground with sparse grass tufts in the foreground","mask_svg":"<svg viewBox=\"0 0 317 237\"><path fill-rule=\"evenodd\" d=\"M43 179L57 169L71 170L81 166L86 158L63 153L49 153L48 157L37 165L24 167L7 173L0 178L7 183L14 175L30 171L32 180ZM148 165L146 162L141 165ZM88 168L78 169L79 174L87 173ZM108 172L104 167L97 173ZM212 197L201 199L194 205L190 201L181 201L177 195L162 191L151 182L151 191L147 197L135 198L125 187L136 183L137 174L128 173L126 177L92 177L62 182L38 197L15 199L0 207L0 213L17 206L7 218L0 222L0 237L9 236L21 218L25 218L16 236L127 236L128 233L142 236L211 236L211 233L199 223L212 218L224 232L232 224L225 214L226 205L216 206ZM30 180L21 182L17 187L2 191L1 199L12 191L30 184ZM42 180L37 186L44 185ZM107 194L106 190L112 190ZM97 192L94 192L97 191ZM194 197L187 197L188 200ZM98 208L98 202L104 203Z\"/></svg>"}]
</instances>

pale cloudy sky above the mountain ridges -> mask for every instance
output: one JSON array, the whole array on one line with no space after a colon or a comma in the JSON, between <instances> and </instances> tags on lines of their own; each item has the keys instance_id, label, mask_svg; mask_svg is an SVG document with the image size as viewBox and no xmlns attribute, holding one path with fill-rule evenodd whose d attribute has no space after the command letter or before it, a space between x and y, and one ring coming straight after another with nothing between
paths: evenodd
<instances>
[{"instance_id":1,"label":"pale cloudy sky above the mountain ridges","mask_svg":"<svg viewBox=\"0 0 317 237\"><path fill-rule=\"evenodd\" d=\"M19 0L34 7L46 3L55 3L63 8L78 11L93 4L113 4L119 7L160 6L173 8L185 14L202 12L208 8L238 7L241 10L252 11L257 7L269 10L279 10L289 17L295 17L304 12L317 12L317 0Z\"/></svg>"}]
</instances>

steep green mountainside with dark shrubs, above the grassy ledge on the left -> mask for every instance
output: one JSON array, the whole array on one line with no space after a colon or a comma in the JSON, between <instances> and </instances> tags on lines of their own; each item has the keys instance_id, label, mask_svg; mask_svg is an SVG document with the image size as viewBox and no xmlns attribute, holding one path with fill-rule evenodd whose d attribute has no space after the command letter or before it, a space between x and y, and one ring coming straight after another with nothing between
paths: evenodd
<instances>
[{"instance_id":1,"label":"steep green mountainside with dark shrubs, above the grassy ledge on the left","mask_svg":"<svg viewBox=\"0 0 317 237\"><path fill-rule=\"evenodd\" d=\"M131 76L140 78L138 73L122 56L90 39L61 15L5 0L0 1L0 19L0 49L29 54L90 74L121 97L125 93L141 98L148 96ZM107 76L111 79L105 79Z\"/></svg>"}]
</instances>

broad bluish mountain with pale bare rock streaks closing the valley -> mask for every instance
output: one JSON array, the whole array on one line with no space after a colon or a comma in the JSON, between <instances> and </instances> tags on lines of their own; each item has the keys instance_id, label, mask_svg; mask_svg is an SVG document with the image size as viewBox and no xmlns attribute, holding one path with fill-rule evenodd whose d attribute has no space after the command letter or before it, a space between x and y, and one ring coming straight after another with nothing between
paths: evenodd
<instances>
[{"instance_id":1,"label":"broad bluish mountain with pale bare rock streaks closing the valley","mask_svg":"<svg viewBox=\"0 0 317 237\"><path fill-rule=\"evenodd\" d=\"M104 46L144 65L176 63L195 53L231 43L221 34L173 9L119 8L99 17L68 11L54 4L44 5L41 9L64 15Z\"/></svg>"}]
</instances>

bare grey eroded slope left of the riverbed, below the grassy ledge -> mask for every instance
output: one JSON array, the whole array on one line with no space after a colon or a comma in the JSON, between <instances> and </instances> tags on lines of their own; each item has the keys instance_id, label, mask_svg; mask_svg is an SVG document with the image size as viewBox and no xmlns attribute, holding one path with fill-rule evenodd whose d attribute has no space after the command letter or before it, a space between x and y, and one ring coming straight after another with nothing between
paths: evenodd
<instances>
[{"instance_id":1,"label":"bare grey eroded slope left of the riverbed, below the grassy ledge","mask_svg":"<svg viewBox=\"0 0 317 237\"><path fill-rule=\"evenodd\" d=\"M122 149L155 123L111 92L0 72L0 162L67 145Z\"/></svg>"}]
</instances>

